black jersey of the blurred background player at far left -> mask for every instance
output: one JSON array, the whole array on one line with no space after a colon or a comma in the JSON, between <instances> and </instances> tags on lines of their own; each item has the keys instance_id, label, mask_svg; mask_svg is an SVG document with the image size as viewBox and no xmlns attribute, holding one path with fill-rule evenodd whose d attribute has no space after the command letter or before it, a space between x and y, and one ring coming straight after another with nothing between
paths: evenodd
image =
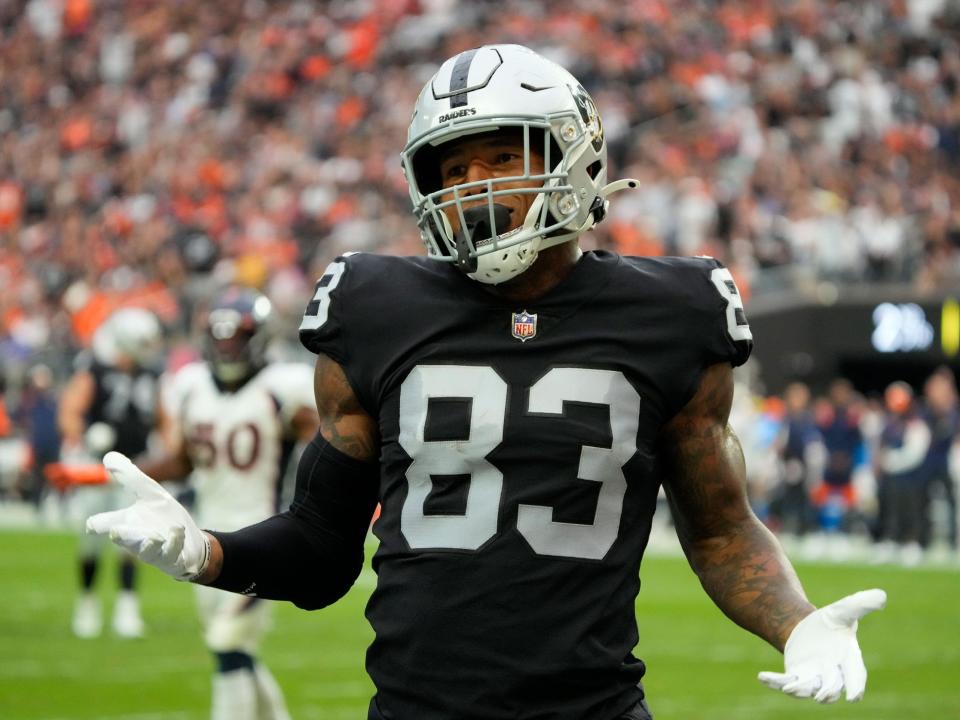
<instances>
[{"instance_id":1,"label":"black jersey of the blurred background player at far left","mask_svg":"<svg viewBox=\"0 0 960 720\"><path fill-rule=\"evenodd\" d=\"M77 366L89 372L94 381L87 424L102 422L113 428L116 433L113 450L130 457L142 454L156 424L157 371L138 368L128 373L89 355L81 356Z\"/></svg>"}]
</instances>

